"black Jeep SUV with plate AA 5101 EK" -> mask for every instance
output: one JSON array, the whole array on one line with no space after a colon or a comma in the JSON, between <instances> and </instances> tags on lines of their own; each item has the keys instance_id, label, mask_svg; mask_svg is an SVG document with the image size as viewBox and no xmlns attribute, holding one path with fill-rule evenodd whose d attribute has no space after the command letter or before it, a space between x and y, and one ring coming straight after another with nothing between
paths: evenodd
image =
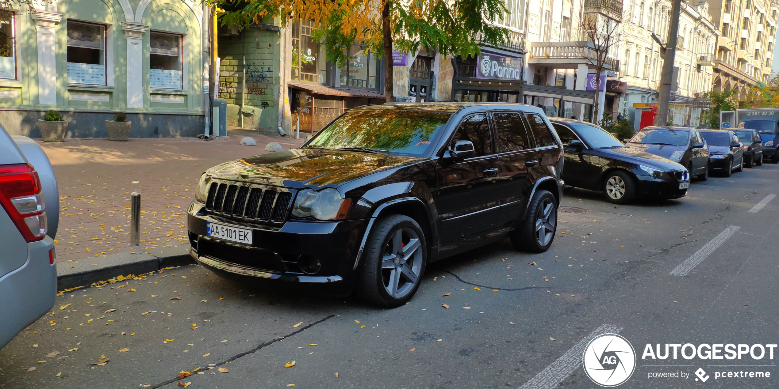
<instances>
[{"instance_id":1,"label":"black Jeep SUV with plate AA 5101 EK","mask_svg":"<svg viewBox=\"0 0 779 389\"><path fill-rule=\"evenodd\" d=\"M425 265L510 237L546 251L562 145L510 103L354 108L301 149L222 163L189 207L192 257L224 277L397 307Z\"/></svg>"}]
</instances>

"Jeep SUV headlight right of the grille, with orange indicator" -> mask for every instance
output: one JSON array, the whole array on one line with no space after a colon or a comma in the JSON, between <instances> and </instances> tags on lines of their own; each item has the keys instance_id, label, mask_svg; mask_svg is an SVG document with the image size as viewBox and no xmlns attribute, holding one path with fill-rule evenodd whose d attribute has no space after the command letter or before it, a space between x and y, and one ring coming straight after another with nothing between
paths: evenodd
<instances>
[{"instance_id":1,"label":"Jeep SUV headlight right of the grille, with orange indicator","mask_svg":"<svg viewBox=\"0 0 779 389\"><path fill-rule=\"evenodd\" d=\"M312 217L319 220L346 219L351 208L351 198L342 198L340 192L328 187L322 191L303 189L292 205L292 216Z\"/></svg>"}]
</instances>

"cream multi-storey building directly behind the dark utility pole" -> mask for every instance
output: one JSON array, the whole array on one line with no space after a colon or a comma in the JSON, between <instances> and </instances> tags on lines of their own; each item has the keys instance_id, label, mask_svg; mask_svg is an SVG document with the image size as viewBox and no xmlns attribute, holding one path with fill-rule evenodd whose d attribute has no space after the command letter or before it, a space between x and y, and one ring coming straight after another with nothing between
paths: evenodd
<instances>
[{"instance_id":1,"label":"cream multi-storey building directly behind the dark utility pole","mask_svg":"<svg viewBox=\"0 0 779 389\"><path fill-rule=\"evenodd\" d=\"M643 127L636 110L657 110L671 5L668 0L626 2L623 39L616 49L622 59L619 79L626 87L621 98L613 100L612 110L626 111L636 129ZM682 2L668 112L674 125L697 127L707 122L710 104L703 95L711 89L714 78L713 54L719 36L709 12L705 1Z\"/></svg>"}]
</instances>

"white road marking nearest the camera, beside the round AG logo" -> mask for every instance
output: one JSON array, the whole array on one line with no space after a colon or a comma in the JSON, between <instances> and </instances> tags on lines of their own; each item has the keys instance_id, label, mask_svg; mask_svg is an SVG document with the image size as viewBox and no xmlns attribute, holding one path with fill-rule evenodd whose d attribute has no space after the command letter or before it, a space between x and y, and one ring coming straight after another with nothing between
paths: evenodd
<instances>
[{"instance_id":1,"label":"white road marking nearest the camera, beside the round AG logo","mask_svg":"<svg viewBox=\"0 0 779 389\"><path fill-rule=\"evenodd\" d=\"M576 343L576 345L573 346L573 349L569 349L565 354L562 354L561 357L555 359L555 362L552 362L551 365L546 366L544 370L541 370L541 373L530 378L530 380L522 385L520 389L554 389L562 380L565 380L571 375L573 370L576 370L576 368L581 366L584 349L587 348L587 345L589 345L594 338L603 334L618 334L619 331L622 331L622 327L612 324L601 325L601 327L592 331L590 335L587 335L587 338Z\"/></svg>"}]
</instances>

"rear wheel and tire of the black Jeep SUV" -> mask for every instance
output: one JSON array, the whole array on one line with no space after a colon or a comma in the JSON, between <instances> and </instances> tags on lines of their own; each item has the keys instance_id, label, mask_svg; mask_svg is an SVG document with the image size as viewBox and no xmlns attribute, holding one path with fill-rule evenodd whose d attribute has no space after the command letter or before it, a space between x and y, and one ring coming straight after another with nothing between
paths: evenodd
<instances>
[{"instance_id":1,"label":"rear wheel and tire of the black Jeep SUV","mask_svg":"<svg viewBox=\"0 0 779 389\"><path fill-rule=\"evenodd\" d=\"M530 199L527 220L511 235L511 243L519 250L543 253L552 246L557 232L557 200L549 191L538 190Z\"/></svg>"}]
</instances>

